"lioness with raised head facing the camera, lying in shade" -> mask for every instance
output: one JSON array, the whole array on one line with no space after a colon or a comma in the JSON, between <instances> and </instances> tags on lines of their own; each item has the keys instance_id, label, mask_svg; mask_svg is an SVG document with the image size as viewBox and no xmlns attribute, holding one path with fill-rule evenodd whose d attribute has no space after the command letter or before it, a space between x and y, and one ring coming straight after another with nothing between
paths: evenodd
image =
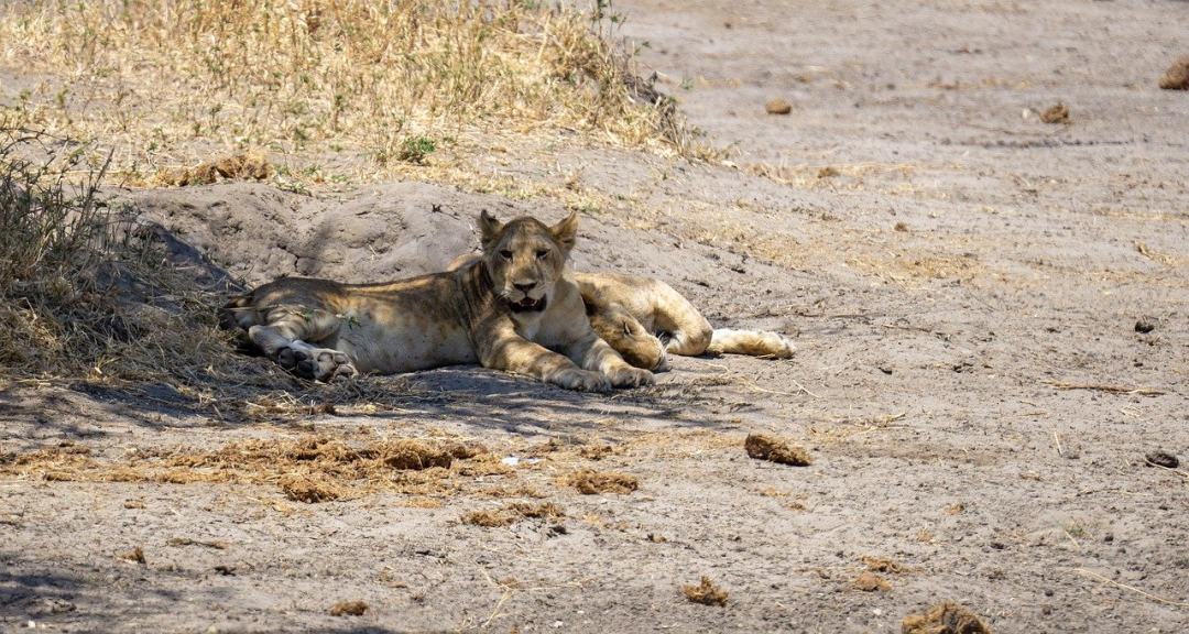
<instances>
[{"instance_id":1,"label":"lioness with raised head facing the camera, lying in shade","mask_svg":"<svg viewBox=\"0 0 1189 634\"><path fill-rule=\"evenodd\" d=\"M233 297L224 321L300 376L480 363L567 389L653 383L594 331L567 265L578 215L553 226L479 216L483 256L382 284L283 278Z\"/></svg>"}]
</instances>

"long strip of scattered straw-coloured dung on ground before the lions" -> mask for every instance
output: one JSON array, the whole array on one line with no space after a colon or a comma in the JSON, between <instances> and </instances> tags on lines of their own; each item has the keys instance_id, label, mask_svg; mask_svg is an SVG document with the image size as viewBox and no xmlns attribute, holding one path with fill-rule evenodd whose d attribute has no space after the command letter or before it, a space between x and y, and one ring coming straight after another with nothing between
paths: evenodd
<instances>
[{"instance_id":1,"label":"long strip of scattered straw-coloured dung on ground before the lions","mask_svg":"<svg viewBox=\"0 0 1189 634\"><path fill-rule=\"evenodd\" d=\"M350 444L308 435L244 440L215 451L133 450L118 460L65 444L2 456L0 473L58 482L266 484L290 500L316 503L380 490L419 496L457 492L467 479L503 475L507 469L495 456L460 442L392 438Z\"/></svg>"}]
</instances>

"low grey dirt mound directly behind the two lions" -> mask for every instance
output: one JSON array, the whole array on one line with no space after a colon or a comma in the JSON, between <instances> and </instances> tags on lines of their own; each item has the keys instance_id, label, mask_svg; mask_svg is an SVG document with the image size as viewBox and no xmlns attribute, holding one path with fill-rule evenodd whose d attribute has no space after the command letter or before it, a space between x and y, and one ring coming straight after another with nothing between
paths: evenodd
<instances>
[{"instance_id":1,"label":"low grey dirt mound directly behind the two lions","mask_svg":"<svg viewBox=\"0 0 1189 634\"><path fill-rule=\"evenodd\" d=\"M232 277L258 285L282 276L377 282L445 270L479 246L474 220L487 209L507 220L560 220L558 205L521 203L426 183L391 183L338 196L310 197L268 183L224 182L150 189L120 196L144 221L184 238ZM627 239L622 230L584 215L574 266L623 268L623 256L600 244ZM615 257L616 263L608 258ZM644 270L673 266L647 249L631 256Z\"/></svg>"}]
</instances>

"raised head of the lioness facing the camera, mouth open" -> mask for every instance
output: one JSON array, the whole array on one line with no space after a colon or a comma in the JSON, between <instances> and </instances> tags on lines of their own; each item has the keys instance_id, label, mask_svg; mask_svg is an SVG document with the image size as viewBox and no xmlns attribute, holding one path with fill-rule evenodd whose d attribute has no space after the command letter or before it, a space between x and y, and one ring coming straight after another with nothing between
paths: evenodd
<instances>
[{"instance_id":1,"label":"raised head of the lioness facing the camera, mouth open","mask_svg":"<svg viewBox=\"0 0 1189 634\"><path fill-rule=\"evenodd\" d=\"M535 218L501 222L486 209L479 215L483 266L496 295L514 313L545 310L578 234L578 214L547 226Z\"/></svg>"}]
</instances>

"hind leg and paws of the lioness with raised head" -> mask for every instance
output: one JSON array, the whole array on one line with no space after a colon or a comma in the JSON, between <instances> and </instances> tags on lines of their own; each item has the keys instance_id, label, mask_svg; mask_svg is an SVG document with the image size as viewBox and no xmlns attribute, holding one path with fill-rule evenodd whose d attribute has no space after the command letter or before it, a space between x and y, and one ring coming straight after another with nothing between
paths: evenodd
<instances>
[{"instance_id":1,"label":"hind leg and paws of the lioness with raised head","mask_svg":"<svg viewBox=\"0 0 1189 634\"><path fill-rule=\"evenodd\" d=\"M358 374L351 357L333 347L317 347L308 341L323 341L339 332L340 320L323 309L273 308L268 322L247 328L247 338L297 376L327 381Z\"/></svg>"}]
</instances>

